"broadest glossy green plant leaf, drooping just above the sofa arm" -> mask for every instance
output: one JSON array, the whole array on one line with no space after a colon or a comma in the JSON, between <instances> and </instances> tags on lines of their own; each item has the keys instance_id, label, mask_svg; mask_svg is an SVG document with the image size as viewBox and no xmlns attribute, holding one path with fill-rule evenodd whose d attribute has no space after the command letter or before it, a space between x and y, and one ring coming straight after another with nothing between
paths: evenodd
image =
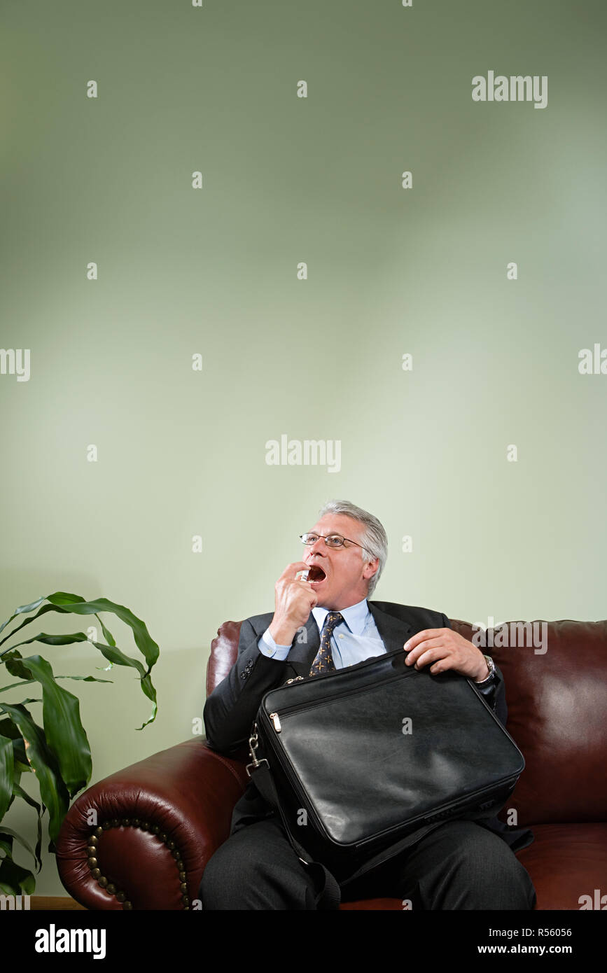
<instances>
[{"instance_id":1,"label":"broadest glossy green plant leaf, drooping just above the sofa arm","mask_svg":"<svg viewBox=\"0 0 607 973\"><path fill-rule=\"evenodd\" d=\"M70 797L89 783L90 747L80 719L80 701L54 681L53 668L41 656L27 656L23 667L42 685L42 713L47 742L54 752Z\"/></svg>"}]
</instances>

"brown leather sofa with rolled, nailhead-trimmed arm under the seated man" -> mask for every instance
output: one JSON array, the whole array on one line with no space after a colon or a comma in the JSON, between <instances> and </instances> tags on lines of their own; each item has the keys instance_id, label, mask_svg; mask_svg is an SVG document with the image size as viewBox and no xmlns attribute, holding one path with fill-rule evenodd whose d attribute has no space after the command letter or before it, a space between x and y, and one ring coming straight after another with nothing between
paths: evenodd
<instances>
[{"instance_id":1,"label":"brown leather sofa with rolled, nailhead-trimmed arm under the seated man","mask_svg":"<svg viewBox=\"0 0 607 973\"><path fill-rule=\"evenodd\" d=\"M467 622L451 625L472 640ZM227 622L213 640L207 693L232 667L239 628ZM578 910L589 901L582 896L597 908L607 893L607 621L550 623L546 652L528 641L484 651L504 674L508 730L526 762L508 808L535 836L517 856L537 890L536 908ZM213 752L200 737L106 777L63 821L61 882L89 909L196 908L205 863L229 836L245 781L244 760ZM402 904L374 899L340 908L400 911Z\"/></svg>"}]
</instances>

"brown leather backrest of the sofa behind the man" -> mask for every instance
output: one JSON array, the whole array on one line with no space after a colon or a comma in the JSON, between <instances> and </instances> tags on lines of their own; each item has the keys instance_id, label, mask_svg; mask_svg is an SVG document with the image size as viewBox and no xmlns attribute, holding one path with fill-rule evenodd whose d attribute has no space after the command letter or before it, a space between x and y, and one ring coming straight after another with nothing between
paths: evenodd
<instances>
[{"instance_id":1,"label":"brown leather backrest of the sofa behind the man","mask_svg":"<svg viewBox=\"0 0 607 973\"><path fill-rule=\"evenodd\" d=\"M469 622L451 627L473 640ZM207 695L233 666L240 622L225 622L211 643ZM525 769L500 817L519 826L603 821L607 810L607 621L505 623L487 630L482 652L506 684L507 729ZM491 644L493 643L493 644Z\"/></svg>"}]
</instances>

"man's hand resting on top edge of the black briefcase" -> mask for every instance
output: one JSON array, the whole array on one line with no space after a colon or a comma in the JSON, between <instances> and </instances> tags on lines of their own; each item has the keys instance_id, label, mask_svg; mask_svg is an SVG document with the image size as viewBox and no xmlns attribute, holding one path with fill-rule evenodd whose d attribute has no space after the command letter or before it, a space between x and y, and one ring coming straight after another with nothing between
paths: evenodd
<instances>
[{"instance_id":1,"label":"man's hand resting on top edge of the black briefcase","mask_svg":"<svg viewBox=\"0 0 607 973\"><path fill-rule=\"evenodd\" d=\"M430 671L434 674L453 669L475 682L482 682L489 674L482 652L452 629L418 631L403 648L409 653L407 665L416 669L432 664Z\"/></svg>"}]
</instances>

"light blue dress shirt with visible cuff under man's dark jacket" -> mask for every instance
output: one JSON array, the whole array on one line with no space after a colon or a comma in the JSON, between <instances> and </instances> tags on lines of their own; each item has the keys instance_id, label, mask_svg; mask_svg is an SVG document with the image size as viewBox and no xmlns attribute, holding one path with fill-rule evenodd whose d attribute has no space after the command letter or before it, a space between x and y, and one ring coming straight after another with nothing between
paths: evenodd
<instances>
[{"instance_id":1,"label":"light blue dress shirt with visible cuff under man's dark jacket","mask_svg":"<svg viewBox=\"0 0 607 973\"><path fill-rule=\"evenodd\" d=\"M312 608L314 621L318 631L322 631L325 619L329 614L328 608ZM367 598L358 604L342 608L340 612L343 622L333 630L331 636L331 651L336 668L354 666L373 656L382 656L385 646L377 631L375 619L369 610ZM268 659L284 661L289 655L290 645L278 645L267 629L258 642L260 652Z\"/></svg>"}]
</instances>

